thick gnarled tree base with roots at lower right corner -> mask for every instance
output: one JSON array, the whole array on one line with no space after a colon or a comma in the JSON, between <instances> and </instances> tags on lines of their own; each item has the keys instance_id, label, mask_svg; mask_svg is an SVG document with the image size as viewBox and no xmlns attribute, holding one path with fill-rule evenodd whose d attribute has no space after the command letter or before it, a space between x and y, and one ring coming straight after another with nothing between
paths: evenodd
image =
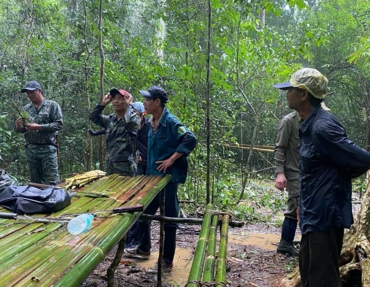
<instances>
[{"instance_id":1,"label":"thick gnarled tree base with roots at lower right corner","mask_svg":"<svg viewBox=\"0 0 370 287\"><path fill-rule=\"evenodd\" d=\"M367 188L355 223L344 235L339 258L342 287L370 287L370 171L367 172ZM278 283L279 286L299 287L301 278L298 267Z\"/></svg>"}]
</instances>

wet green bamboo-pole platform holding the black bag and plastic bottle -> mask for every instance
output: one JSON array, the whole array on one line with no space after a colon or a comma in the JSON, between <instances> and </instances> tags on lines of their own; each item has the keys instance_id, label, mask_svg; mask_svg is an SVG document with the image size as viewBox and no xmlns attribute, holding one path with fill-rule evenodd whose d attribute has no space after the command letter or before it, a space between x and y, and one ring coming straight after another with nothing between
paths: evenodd
<instances>
[{"instance_id":1,"label":"wet green bamboo-pole platform holding the black bag and plastic bottle","mask_svg":"<svg viewBox=\"0 0 370 287\"><path fill-rule=\"evenodd\" d=\"M170 178L105 176L77 190L69 206L49 217L135 204L145 209ZM80 235L69 234L66 223L0 219L0 286L79 286L141 213L97 214Z\"/></svg>"}]
</instances>

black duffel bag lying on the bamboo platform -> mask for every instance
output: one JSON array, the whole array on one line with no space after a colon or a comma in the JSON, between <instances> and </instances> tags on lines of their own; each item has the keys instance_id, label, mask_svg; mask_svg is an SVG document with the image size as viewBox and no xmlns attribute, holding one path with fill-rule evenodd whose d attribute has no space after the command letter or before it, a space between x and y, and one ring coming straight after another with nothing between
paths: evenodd
<instances>
[{"instance_id":1,"label":"black duffel bag lying on the bamboo platform","mask_svg":"<svg viewBox=\"0 0 370 287\"><path fill-rule=\"evenodd\" d=\"M28 185L9 185L0 193L0 206L17 214L49 214L63 209L70 201L65 189L54 186L41 190Z\"/></svg>"}]
</instances>

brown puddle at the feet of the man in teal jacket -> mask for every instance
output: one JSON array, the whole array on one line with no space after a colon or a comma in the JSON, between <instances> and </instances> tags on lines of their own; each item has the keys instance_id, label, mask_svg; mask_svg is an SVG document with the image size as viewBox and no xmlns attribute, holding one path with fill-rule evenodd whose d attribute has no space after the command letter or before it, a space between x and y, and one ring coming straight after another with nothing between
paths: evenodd
<instances>
[{"instance_id":1,"label":"brown puddle at the feet of the man in teal jacket","mask_svg":"<svg viewBox=\"0 0 370 287\"><path fill-rule=\"evenodd\" d=\"M189 277L189 272L191 264L193 263L193 254L192 249L183 249L176 247L175 258L174 258L174 267L170 274L163 274L163 281L170 284L179 284L184 286ZM153 252L149 260L140 260L136 264L143 267L144 269L149 269L152 267L158 260L158 252Z\"/></svg>"}]
</instances>

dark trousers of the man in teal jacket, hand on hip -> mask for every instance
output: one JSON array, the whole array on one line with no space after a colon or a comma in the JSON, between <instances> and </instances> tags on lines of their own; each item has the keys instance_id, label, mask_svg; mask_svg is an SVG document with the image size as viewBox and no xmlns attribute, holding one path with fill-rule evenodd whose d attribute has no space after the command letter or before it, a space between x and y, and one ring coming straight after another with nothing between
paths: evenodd
<instances>
[{"instance_id":1,"label":"dark trousers of the man in teal jacket, hand on hip","mask_svg":"<svg viewBox=\"0 0 370 287\"><path fill-rule=\"evenodd\" d=\"M145 209L145 214L154 215L160 206L161 193L165 192L164 197L164 216L178 217L179 206L177 199L177 183L168 183L164 189L157 194L151 204ZM171 264L175 257L176 249L176 223L164 223L164 243L163 261ZM140 250L147 252L152 248L151 244L151 222L147 220L139 221Z\"/></svg>"}]
</instances>

